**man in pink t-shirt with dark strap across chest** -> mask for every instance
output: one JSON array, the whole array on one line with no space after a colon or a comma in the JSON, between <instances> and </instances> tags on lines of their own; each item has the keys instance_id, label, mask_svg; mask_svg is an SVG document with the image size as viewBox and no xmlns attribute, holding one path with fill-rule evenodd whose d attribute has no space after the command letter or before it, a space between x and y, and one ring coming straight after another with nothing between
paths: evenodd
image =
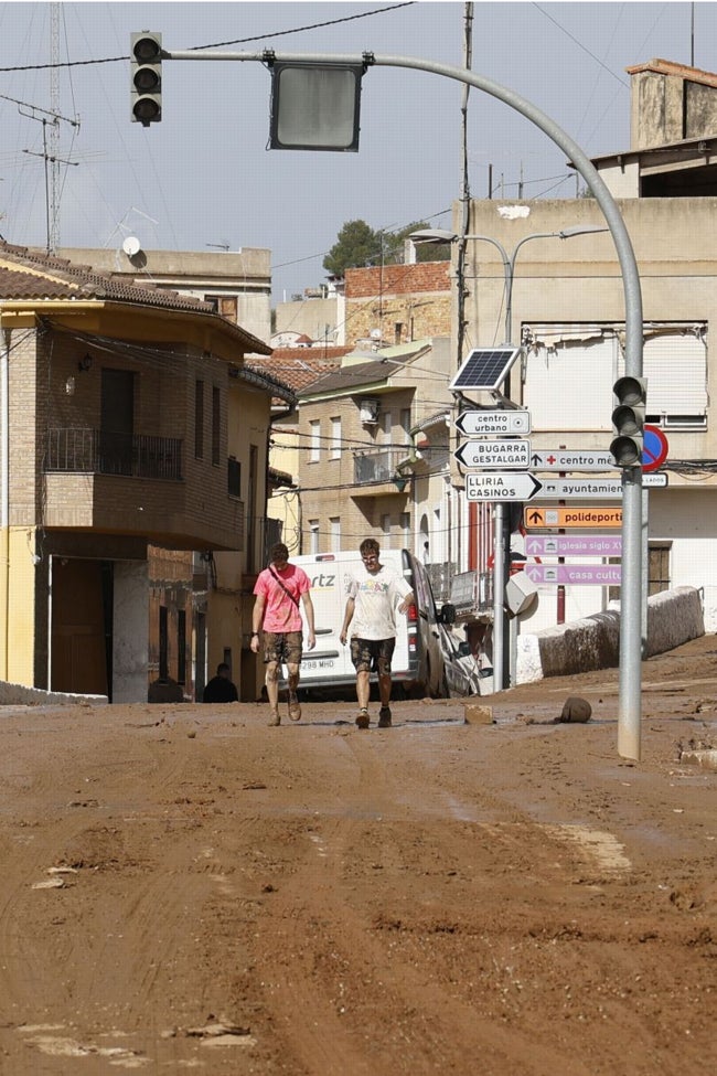
<instances>
[{"instance_id":1,"label":"man in pink t-shirt with dark strap across chest","mask_svg":"<svg viewBox=\"0 0 717 1076\"><path fill-rule=\"evenodd\" d=\"M269 551L269 566L259 572L254 594L252 614L252 650L259 652L259 631L264 631L264 663L266 665L266 690L271 715L269 725L280 725L279 714L279 669L283 662L289 681L289 717L301 720L301 706L297 690L303 649L303 632L299 601L309 626L307 649L313 650L317 637L313 626L313 605L309 594L309 576L297 564L289 564L289 551L282 542L277 542Z\"/></svg>"}]
</instances>

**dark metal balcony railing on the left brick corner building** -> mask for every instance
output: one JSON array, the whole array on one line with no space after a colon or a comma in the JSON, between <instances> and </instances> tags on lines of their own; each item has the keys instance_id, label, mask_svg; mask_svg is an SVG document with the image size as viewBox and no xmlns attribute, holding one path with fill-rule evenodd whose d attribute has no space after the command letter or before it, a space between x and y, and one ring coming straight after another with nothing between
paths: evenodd
<instances>
[{"instance_id":1,"label":"dark metal balcony railing on the left brick corner building","mask_svg":"<svg viewBox=\"0 0 717 1076\"><path fill-rule=\"evenodd\" d=\"M44 470L181 481L182 441L100 429L50 429Z\"/></svg>"}]
</instances>

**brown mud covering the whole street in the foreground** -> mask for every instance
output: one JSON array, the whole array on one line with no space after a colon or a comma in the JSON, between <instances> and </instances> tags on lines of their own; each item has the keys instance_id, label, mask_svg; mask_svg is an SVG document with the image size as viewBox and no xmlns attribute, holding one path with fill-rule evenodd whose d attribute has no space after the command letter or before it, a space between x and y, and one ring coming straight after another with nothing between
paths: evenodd
<instances>
[{"instance_id":1,"label":"brown mud covering the whole street in the foreground","mask_svg":"<svg viewBox=\"0 0 717 1076\"><path fill-rule=\"evenodd\" d=\"M0 1072L707 1076L717 641L459 700L0 710ZM567 695L587 725L549 724Z\"/></svg>"}]
</instances>

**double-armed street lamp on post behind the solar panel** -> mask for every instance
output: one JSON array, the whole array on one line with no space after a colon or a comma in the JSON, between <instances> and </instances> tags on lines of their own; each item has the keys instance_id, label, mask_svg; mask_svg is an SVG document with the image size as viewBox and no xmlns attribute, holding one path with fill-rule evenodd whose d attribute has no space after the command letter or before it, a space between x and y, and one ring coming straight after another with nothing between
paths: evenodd
<instances>
[{"instance_id":1,"label":"double-armed street lamp on post behind the solar panel","mask_svg":"<svg viewBox=\"0 0 717 1076\"><path fill-rule=\"evenodd\" d=\"M576 235L590 235L595 232L608 232L604 225L580 225L560 228L559 232L533 232L524 235L516 243L513 252L507 253L502 243L490 235L459 235L456 232L448 232L443 228L419 228L411 232L409 238L414 243L458 243L458 242L483 242L490 243L500 253L503 262L503 273L505 275L505 347L520 347L513 343L513 284L515 280L515 262L521 247L531 239L570 239ZM462 287L459 281L459 287ZM460 363L462 355L458 355ZM510 376L510 375L509 375ZM505 392L510 398L510 388ZM502 691L510 685L510 670L514 668L515 641L509 642L507 616L505 612L505 585L509 579L511 568L511 529L510 511L507 505L500 501L495 504L493 514L493 691ZM506 644L507 643L507 644ZM506 675L506 656L509 656L509 672Z\"/></svg>"}]
</instances>

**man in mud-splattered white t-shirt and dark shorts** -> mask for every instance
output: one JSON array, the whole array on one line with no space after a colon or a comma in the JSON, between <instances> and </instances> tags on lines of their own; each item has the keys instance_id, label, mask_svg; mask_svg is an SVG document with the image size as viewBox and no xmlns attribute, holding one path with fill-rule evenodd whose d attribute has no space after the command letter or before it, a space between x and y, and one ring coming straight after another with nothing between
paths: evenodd
<instances>
[{"instance_id":1,"label":"man in mud-splattered white t-shirt and dark shorts","mask_svg":"<svg viewBox=\"0 0 717 1076\"><path fill-rule=\"evenodd\" d=\"M415 601L410 586L402 575L379 561L381 547L375 539L364 539L358 547L363 569L347 579L349 598L341 628L345 646L351 625L351 660L356 670L358 728L368 728L371 671L378 673L381 711L378 727L390 727L390 659L396 647L396 612L405 612Z\"/></svg>"}]
</instances>

